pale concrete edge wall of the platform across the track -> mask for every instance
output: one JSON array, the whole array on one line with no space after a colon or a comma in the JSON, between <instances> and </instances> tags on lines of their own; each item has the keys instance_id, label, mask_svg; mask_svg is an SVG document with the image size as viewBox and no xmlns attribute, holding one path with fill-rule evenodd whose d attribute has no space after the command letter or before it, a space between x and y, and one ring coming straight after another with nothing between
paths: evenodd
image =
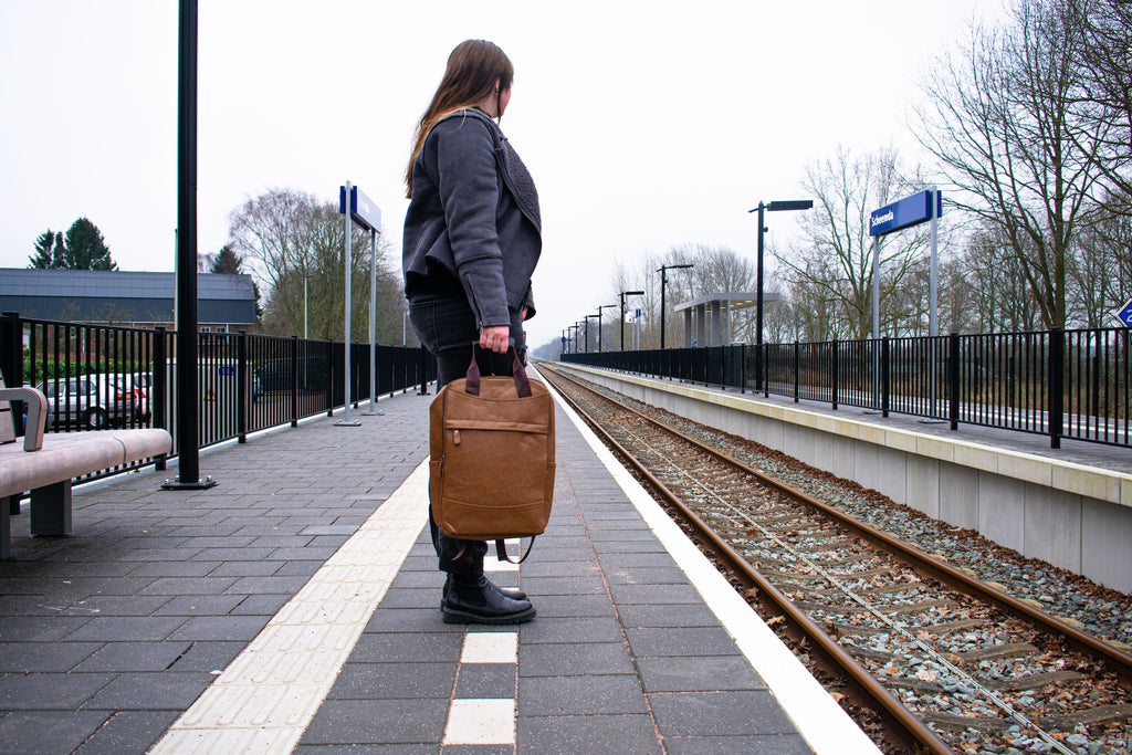
<instances>
[{"instance_id":1,"label":"pale concrete edge wall of the platform across the track","mask_svg":"<svg viewBox=\"0 0 1132 755\"><path fill-rule=\"evenodd\" d=\"M578 366L590 380L749 438L1020 554L1132 592L1132 475Z\"/></svg>"}]
</instances>

